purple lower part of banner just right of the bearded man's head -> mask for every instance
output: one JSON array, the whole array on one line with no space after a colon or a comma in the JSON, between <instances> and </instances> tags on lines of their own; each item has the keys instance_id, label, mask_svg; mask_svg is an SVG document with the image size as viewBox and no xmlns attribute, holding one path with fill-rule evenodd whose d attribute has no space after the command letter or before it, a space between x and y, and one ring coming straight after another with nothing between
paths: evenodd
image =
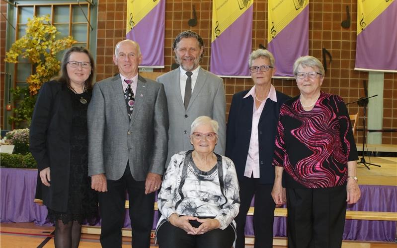
<instances>
[{"instance_id":1,"label":"purple lower part of banner just right of the bearded man's head","mask_svg":"<svg viewBox=\"0 0 397 248\"><path fill-rule=\"evenodd\" d=\"M252 50L251 5L211 44L210 71L219 76L249 76Z\"/></svg>"}]
</instances>

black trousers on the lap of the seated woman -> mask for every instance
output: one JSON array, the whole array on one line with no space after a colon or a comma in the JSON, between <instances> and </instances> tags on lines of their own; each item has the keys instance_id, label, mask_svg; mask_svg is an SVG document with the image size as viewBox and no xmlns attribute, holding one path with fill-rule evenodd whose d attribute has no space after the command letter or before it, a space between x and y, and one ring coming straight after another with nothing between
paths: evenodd
<instances>
[{"instance_id":1,"label":"black trousers on the lap of the seated woman","mask_svg":"<svg viewBox=\"0 0 397 248\"><path fill-rule=\"evenodd\" d=\"M167 221L157 231L157 240L159 248L231 248L235 231L229 225L225 230L218 228L201 235L190 235Z\"/></svg>"}]
</instances>

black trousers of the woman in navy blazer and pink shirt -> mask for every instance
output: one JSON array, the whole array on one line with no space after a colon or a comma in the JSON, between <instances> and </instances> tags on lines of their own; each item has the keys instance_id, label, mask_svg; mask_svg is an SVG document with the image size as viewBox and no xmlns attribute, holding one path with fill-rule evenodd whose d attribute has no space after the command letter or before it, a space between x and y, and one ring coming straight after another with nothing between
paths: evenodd
<instances>
[{"instance_id":1,"label":"black trousers of the woman in navy blazer and pink shirt","mask_svg":"<svg viewBox=\"0 0 397 248\"><path fill-rule=\"evenodd\" d=\"M236 248L245 246L245 220L253 195L255 195L254 248L272 248L274 209L276 207L271 195L273 185L263 185L259 183L259 179L247 177L244 177L238 184L240 186L240 209L235 219L237 222Z\"/></svg>"}]
</instances>

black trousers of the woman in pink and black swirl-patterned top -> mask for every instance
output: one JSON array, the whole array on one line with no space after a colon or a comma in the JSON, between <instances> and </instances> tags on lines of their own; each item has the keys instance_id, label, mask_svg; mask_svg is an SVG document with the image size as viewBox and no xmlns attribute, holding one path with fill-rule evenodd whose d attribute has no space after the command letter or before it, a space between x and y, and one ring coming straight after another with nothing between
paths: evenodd
<instances>
[{"instance_id":1,"label":"black trousers of the woman in pink and black swirl-patterned top","mask_svg":"<svg viewBox=\"0 0 397 248\"><path fill-rule=\"evenodd\" d=\"M346 186L287 188L289 248L340 248Z\"/></svg>"}]
</instances>

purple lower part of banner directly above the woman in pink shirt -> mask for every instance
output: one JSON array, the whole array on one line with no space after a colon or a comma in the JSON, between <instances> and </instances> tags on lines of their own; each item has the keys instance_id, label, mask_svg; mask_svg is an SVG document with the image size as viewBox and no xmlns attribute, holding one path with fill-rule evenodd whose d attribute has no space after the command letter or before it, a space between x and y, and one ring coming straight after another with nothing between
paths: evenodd
<instances>
[{"instance_id":1,"label":"purple lower part of banner directly above the woman in pink shirt","mask_svg":"<svg viewBox=\"0 0 397 248\"><path fill-rule=\"evenodd\" d=\"M294 62L309 55L309 5L268 44L275 58L275 76L294 76Z\"/></svg>"}]
</instances>

